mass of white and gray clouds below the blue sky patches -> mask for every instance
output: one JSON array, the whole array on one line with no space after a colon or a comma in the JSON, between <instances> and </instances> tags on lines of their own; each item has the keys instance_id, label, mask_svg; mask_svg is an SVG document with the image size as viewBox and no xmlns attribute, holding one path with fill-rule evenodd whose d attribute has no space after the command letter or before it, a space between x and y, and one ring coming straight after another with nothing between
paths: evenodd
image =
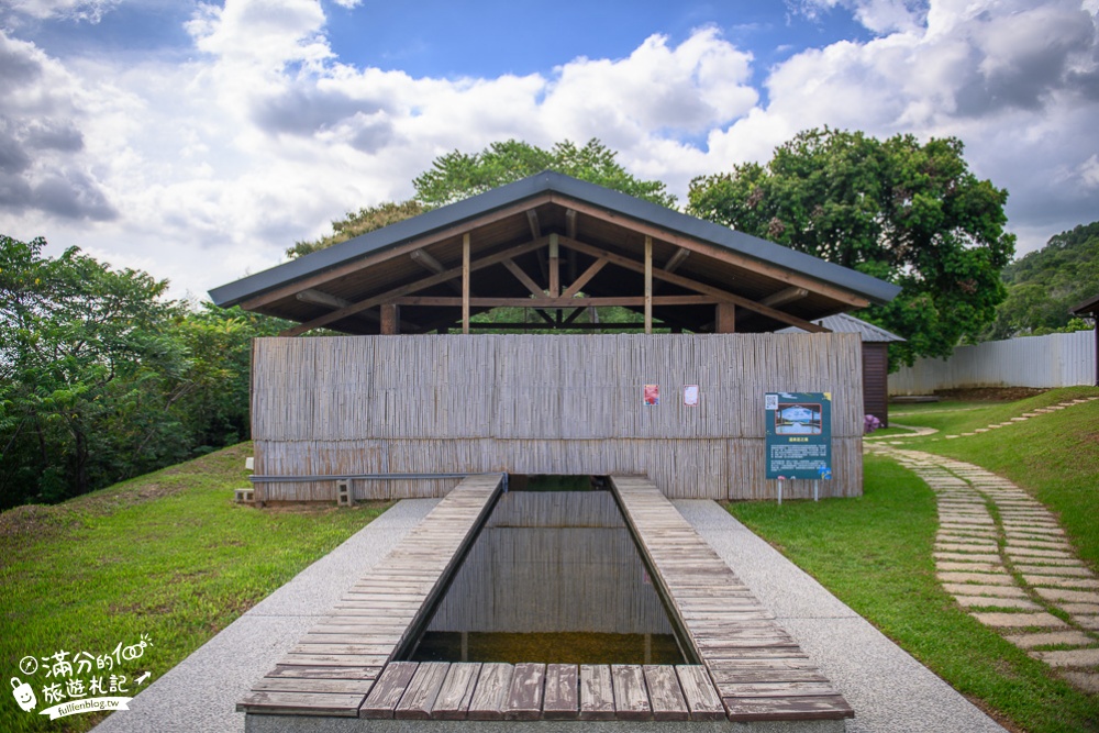
<instances>
[{"instance_id":1,"label":"mass of white and gray clouds below the blue sky patches","mask_svg":"<svg viewBox=\"0 0 1099 733\"><path fill-rule=\"evenodd\" d=\"M1094 12L1068 0L841 4L876 37L777 64L765 107L752 55L712 27L678 44L654 35L622 58L464 79L343 63L312 0L203 5L182 64L63 64L0 33L0 231L201 295L346 211L410 196L453 149L599 137L682 199L693 176L764 162L823 124L962 137L975 173L1011 191L1023 248L1095 218Z\"/></svg>"}]
</instances>

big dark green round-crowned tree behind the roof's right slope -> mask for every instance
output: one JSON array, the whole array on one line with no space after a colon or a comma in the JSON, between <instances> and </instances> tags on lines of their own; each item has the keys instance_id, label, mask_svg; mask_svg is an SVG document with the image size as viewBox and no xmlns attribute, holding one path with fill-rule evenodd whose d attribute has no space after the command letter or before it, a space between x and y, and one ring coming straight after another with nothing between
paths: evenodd
<instances>
[{"instance_id":1,"label":"big dark green round-crowned tree behind the roof's right slope","mask_svg":"<svg viewBox=\"0 0 1099 733\"><path fill-rule=\"evenodd\" d=\"M767 165L691 181L688 211L903 288L858 315L908 341L892 366L975 341L1004 298L1008 193L978 180L962 142L809 130Z\"/></svg>"}]
</instances>

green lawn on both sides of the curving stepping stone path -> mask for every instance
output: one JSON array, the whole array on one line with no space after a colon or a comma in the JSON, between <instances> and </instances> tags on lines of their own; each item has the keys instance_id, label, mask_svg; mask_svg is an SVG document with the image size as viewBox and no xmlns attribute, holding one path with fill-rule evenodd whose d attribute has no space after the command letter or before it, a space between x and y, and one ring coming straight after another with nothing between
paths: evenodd
<instances>
[{"instance_id":1,"label":"green lawn on both sides of the curving stepping stone path","mask_svg":"<svg viewBox=\"0 0 1099 733\"><path fill-rule=\"evenodd\" d=\"M1015 403L904 406L897 422L955 433L1001 422L1090 388L1055 390ZM923 414L925 413L925 414ZM953 441L933 435L903 447L950 455L1012 478L1058 512L1081 554L1096 562L1099 401L1020 425ZM1089 448L1090 446L1090 448ZM942 590L932 547L934 495L909 470L866 456L865 495L820 503L734 503L730 512L820 580L841 600L1007 722L1033 733L1099 731L1099 696L1062 682L978 623Z\"/></svg>"}]
</instances>

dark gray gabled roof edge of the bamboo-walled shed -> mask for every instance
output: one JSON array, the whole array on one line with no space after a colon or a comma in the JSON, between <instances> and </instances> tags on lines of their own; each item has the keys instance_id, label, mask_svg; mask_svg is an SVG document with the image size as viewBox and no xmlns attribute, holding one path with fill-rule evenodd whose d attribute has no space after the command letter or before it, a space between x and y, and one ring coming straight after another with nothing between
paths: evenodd
<instances>
[{"instance_id":1,"label":"dark gray gabled roof edge of the bamboo-walled shed","mask_svg":"<svg viewBox=\"0 0 1099 733\"><path fill-rule=\"evenodd\" d=\"M545 193L576 199L618 216L724 247L761 263L777 265L822 284L862 296L873 303L889 302L900 292L900 288L890 282L795 252L789 247L602 186L558 173L544 171L214 288L210 290L210 298L215 304L229 308L297 279L323 273L365 255L415 241L433 232L473 221Z\"/></svg>"}]
</instances>

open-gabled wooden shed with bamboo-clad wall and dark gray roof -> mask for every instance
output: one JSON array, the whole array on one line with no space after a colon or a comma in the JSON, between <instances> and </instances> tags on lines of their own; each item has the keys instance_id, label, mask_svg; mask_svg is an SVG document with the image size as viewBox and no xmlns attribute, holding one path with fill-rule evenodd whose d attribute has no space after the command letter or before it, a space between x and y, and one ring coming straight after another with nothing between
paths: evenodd
<instances>
[{"instance_id":1,"label":"open-gabled wooden shed with bamboo-clad wall and dark gray roof","mask_svg":"<svg viewBox=\"0 0 1099 733\"><path fill-rule=\"evenodd\" d=\"M298 322L284 336L352 334L255 345L257 498L292 501L333 499L341 478L356 498L442 496L479 471L646 474L671 497L764 498L768 391L832 393L822 493L857 496L859 341L812 321L899 291L544 173L210 295ZM582 322L610 306L637 322ZM499 307L564 335L475 318ZM774 333L788 325L808 333Z\"/></svg>"}]
</instances>

